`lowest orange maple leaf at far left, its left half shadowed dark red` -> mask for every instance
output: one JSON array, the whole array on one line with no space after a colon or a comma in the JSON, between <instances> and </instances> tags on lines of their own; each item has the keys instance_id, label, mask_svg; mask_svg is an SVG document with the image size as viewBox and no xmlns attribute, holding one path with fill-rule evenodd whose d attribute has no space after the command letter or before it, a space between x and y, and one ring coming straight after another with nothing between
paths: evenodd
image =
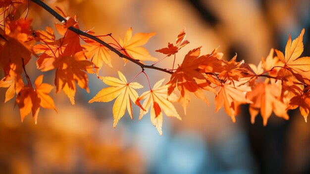
<instances>
[{"instance_id":1,"label":"lowest orange maple leaf at far left, its left half shadowed dark red","mask_svg":"<svg viewBox=\"0 0 310 174\"><path fill-rule=\"evenodd\" d=\"M32 116L37 124L40 106L47 109L54 109L57 112L54 106L54 101L48 95L53 87L50 84L42 83L42 81L43 75L40 75L35 80L36 89L28 84L27 86L24 86L17 95L15 103L19 107L21 121L24 120L25 116L32 112Z\"/></svg>"}]
</instances>

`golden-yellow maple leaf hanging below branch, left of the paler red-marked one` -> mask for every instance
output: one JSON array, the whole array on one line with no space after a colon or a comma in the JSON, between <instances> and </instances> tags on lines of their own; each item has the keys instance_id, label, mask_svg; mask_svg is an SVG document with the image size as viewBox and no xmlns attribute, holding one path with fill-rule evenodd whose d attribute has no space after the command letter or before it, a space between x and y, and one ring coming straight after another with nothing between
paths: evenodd
<instances>
[{"instance_id":1,"label":"golden-yellow maple leaf hanging below branch, left of the paler red-marked one","mask_svg":"<svg viewBox=\"0 0 310 174\"><path fill-rule=\"evenodd\" d=\"M143 88L143 86L137 82L128 83L126 77L120 71L118 71L118 76L119 79L115 77L99 77L103 83L110 87L103 88L88 102L110 102L116 98L113 105L113 127L115 127L119 119L124 116L126 108L129 116L133 118L131 101L135 103L138 99L138 93L135 89Z\"/></svg>"}]
</instances>

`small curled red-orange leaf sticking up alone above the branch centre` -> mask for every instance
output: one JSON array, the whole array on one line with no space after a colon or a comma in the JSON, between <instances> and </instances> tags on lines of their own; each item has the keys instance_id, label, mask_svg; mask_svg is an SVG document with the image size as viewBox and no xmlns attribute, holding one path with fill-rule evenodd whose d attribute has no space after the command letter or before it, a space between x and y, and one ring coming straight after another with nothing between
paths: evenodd
<instances>
[{"instance_id":1,"label":"small curled red-orange leaf sticking up alone above the branch centre","mask_svg":"<svg viewBox=\"0 0 310 174\"><path fill-rule=\"evenodd\" d=\"M175 46L173 44L168 43L167 48L156 50L155 52L162 53L164 55L167 55L167 57L174 55L178 53L178 51L189 44L190 42L188 40L185 40L186 34L185 34L185 28L178 34L178 37L175 42Z\"/></svg>"}]
</instances>

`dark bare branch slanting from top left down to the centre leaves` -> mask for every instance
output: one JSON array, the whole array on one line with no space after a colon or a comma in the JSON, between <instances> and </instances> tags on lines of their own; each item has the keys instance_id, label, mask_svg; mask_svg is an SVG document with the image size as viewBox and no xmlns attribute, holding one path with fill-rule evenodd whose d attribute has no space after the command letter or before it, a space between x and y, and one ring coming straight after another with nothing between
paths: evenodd
<instances>
[{"instance_id":1,"label":"dark bare branch slanting from top left down to the centre leaves","mask_svg":"<svg viewBox=\"0 0 310 174\"><path fill-rule=\"evenodd\" d=\"M45 10L47 10L49 13L51 13L56 19L58 19L60 22L62 21L67 21L64 17L62 17L60 14L58 14L55 10L53 10L49 5L47 5L46 3L44 3L42 0L31 0L33 1L34 3L40 5L42 8L44 8ZM160 68L160 67L157 67L157 66L154 66L154 65L145 65L143 64L142 62L134 59L134 58L130 58L124 54L122 54L121 52L119 52L118 50L116 50L114 47L110 46L109 44L105 43L103 40L101 39L98 39L96 36L93 36L93 35L90 35L86 32L83 32L82 30L79 30L77 28L74 28L74 27L69 27L68 28L69 30L71 30L72 32L78 34L78 35L81 35L81 36L85 36L89 39L92 39L98 43L100 43L101 45L103 45L104 47L108 48L109 50L111 50L112 52L114 52L116 55L118 55L120 58L125 58L125 59L128 59L129 61L135 63L135 64L138 64L142 69L144 68L149 68L149 69L156 69L156 70L159 70L159 71L163 71L163 72L166 72L166 73L169 73L169 74L173 74L172 71L170 70L167 70L165 68Z\"/></svg>"}]
</instances>

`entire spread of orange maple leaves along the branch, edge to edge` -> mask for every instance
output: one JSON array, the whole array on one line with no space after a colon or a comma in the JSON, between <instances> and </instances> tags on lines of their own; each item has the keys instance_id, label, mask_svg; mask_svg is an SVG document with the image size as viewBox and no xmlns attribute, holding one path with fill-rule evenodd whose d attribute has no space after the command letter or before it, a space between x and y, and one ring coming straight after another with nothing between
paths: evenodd
<instances>
[{"instance_id":1,"label":"entire spread of orange maple leaves along the branch, edge to edge","mask_svg":"<svg viewBox=\"0 0 310 174\"><path fill-rule=\"evenodd\" d=\"M275 55L271 49L269 55L262 58L258 66L247 64L244 60L237 61L237 55L227 61L217 49L210 54L201 55L199 47L189 51L176 69L174 69L175 61L172 69L167 69L156 67L155 64L172 56L175 60L178 51L189 44L189 41L185 40L184 29L178 34L175 44L168 43L167 48L156 50L166 55L157 60L148 50L141 47L155 33L132 35L132 28L129 28L124 39L119 41L116 41L111 34L96 36L92 31L79 30L76 17L67 16L58 8L66 18L61 23L55 24L55 29L62 35L56 39L51 27L47 27L46 31L34 31L31 27L32 19L14 18L14 10L10 8L16 8L16 5L27 2L27 0L18 3L14 0L0 1L5 16L2 21L4 25L0 28L0 66L4 70L5 77L1 79L0 87L8 88L5 102L17 94L15 103L19 107L22 120L32 111L32 116L37 122L40 107L57 111L49 96L53 86L43 83L43 75L37 77L35 87L31 83L25 68L31 58L37 58L37 69L43 72L55 71L56 93L63 90L74 105L76 84L89 92L87 74L98 74L103 63L112 67L111 52L114 52L124 58L125 63L130 60L141 66L141 72L135 77L145 74L150 87L149 91L139 97L136 89L141 89L143 86L133 82L135 77L128 82L120 71L118 71L119 78L98 76L110 87L103 88L89 103L110 102L116 98L113 105L114 127L125 115L126 108L129 116L133 118L132 104L135 104L140 107L139 119L150 111L152 123L159 134L162 134L162 113L181 119L171 102L179 102L186 114L191 93L208 103L205 91L215 94L215 111L224 105L225 112L233 122L236 121L235 116L238 115L241 104L250 104L253 123L259 112L263 124L266 125L272 112L276 116L288 119L287 111L297 107L307 121L310 109L308 92L310 58L299 58L304 50L304 29L294 41L289 36L285 54L275 50ZM50 12L52 13L51 10ZM72 28L83 34L73 31ZM106 37L113 42L106 44L103 41ZM145 60L155 63L145 65L143 63ZM151 88L144 68L170 73L171 78L165 85L162 85L164 82L162 79ZM25 74L27 83L24 83L22 73ZM179 97L174 94L175 91L180 92ZM142 100L144 101L141 104Z\"/></svg>"}]
</instances>

